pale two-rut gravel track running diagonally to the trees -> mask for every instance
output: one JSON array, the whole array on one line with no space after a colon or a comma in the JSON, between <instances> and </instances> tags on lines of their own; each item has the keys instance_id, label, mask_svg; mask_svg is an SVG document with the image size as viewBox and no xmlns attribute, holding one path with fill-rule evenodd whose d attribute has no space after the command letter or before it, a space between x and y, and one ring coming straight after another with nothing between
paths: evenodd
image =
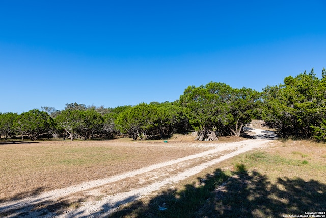
<instances>
[{"instance_id":1,"label":"pale two-rut gravel track running diagonally to the trees","mask_svg":"<svg viewBox=\"0 0 326 218\"><path fill-rule=\"evenodd\" d=\"M203 171L203 169L219 163L223 160L241 154L243 152L266 146L270 140L263 138L271 138L273 132L265 132L260 129L251 129L251 135L259 136L255 140L248 139L240 142L215 144L211 150L189 155L187 157L179 158L172 161L154 164L148 167L143 167L135 171L122 173L113 177L84 182L79 185L57 189L49 192L44 192L39 195L0 203L0 211L6 213L7 217L103 217L115 211L120 205L132 202L150 193L159 190L165 185L173 185L189 176L195 175ZM265 137L267 136L267 137ZM195 164L198 159L207 159L207 161ZM202 162L202 161L201 161ZM178 174L164 173L167 171L167 167L178 167ZM63 214L55 214L47 211L46 209L33 209L36 205L40 205L44 202L55 201L56 199L65 198L67 196L74 195L75 193L86 192L93 193L93 195L101 195L100 188L104 185L110 185L111 183L122 181L132 177L146 177L144 175L156 173L156 175L163 175L157 181L142 186L140 188L133 188L130 191L123 193L116 193L115 195L106 195L101 197L100 200L83 202L82 206L77 209L70 209ZM98 190L97 190L98 189ZM9 211L11 211L9 213ZM13 212L14 211L14 212Z\"/></svg>"}]
</instances>

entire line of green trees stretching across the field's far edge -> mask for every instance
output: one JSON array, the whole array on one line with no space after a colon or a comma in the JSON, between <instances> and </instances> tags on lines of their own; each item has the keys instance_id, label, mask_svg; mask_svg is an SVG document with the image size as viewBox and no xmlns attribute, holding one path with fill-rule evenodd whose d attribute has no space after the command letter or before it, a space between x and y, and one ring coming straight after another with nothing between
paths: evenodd
<instances>
[{"instance_id":1,"label":"entire line of green trees stretching across the field's far edge","mask_svg":"<svg viewBox=\"0 0 326 218\"><path fill-rule=\"evenodd\" d=\"M325 110L326 70L319 79L312 69L262 92L210 82L187 87L174 102L116 108L71 103L61 111L44 106L21 114L0 113L0 136L5 140L17 135L31 140L41 136L148 140L196 130L196 140L218 140L219 136L241 136L244 125L262 119L281 137L326 141Z\"/></svg>"}]
</instances>

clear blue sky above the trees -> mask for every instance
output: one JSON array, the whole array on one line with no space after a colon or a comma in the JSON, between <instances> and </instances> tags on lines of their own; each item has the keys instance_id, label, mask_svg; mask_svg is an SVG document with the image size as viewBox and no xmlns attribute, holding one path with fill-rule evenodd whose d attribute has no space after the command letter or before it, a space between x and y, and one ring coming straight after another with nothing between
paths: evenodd
<instances>
[{"instance_id":1,"label":"clear blue sky above the trees","mask_svg":"<svg viewBox=\"0 0 326 218\"><path fill-rule=\"evenodd\" d=\"M326 67L326 1L1 1L0 112L261 91Z\"/></svg>"}]
</instances>

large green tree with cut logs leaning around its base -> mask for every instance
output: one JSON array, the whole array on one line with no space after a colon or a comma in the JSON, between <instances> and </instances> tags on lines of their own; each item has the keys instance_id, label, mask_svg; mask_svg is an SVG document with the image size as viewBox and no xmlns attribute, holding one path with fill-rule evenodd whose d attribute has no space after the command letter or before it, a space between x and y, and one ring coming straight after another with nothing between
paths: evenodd
<instances>
[{"instance_id":1,"label":"large green tree with cut logs leaning around its base","mask_svg":"<svg viewBox=\"0 0 326 218\"><path fill-rule=\"evenodd\" d=\"M189 86L180 96L180 104L186 108L189 122L198 130L196 140L218 140L216 134L226 131L227 103L232 88L224 83L210 82L199 87Z\"/></svg>"}]
</instances>

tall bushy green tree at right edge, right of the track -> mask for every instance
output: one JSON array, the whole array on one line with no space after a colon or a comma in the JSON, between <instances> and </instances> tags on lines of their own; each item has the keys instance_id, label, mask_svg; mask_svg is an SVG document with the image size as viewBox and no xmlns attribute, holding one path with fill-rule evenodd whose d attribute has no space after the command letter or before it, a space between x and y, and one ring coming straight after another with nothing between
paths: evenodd
<instances>
[{"instance_id":1,"label":"tall bushy green tree at right edge, right of the track","mask_svg":"<svg viewBox=\"0 0 326 218\"><path fill-rule=\"evenodd\" d=\"M284 78L284 84L267 86L263 93L263 119L281 136L312 138L322 130L319 127L326 118L326 80L318 79L313 69L309 74Z\"/></svg>"}]
</instances>

